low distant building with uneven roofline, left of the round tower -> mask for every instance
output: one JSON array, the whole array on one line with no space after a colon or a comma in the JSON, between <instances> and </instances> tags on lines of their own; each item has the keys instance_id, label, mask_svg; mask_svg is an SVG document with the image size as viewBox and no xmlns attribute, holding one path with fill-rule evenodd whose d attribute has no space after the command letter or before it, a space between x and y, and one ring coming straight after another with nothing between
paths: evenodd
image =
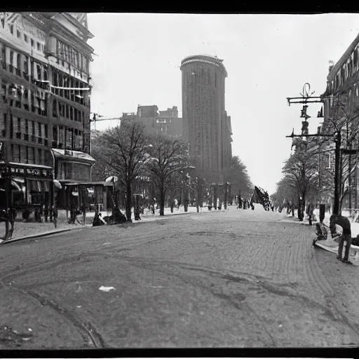
<instances>
[{"instance_id":1,"label":"low distant building with uneven roofline, left of the round tower","mask_svg":"<svg viewBox=\"0 0 359 359\"><path fill-rule=\"evenodd\" d=\"M164 111L158 111L154 104L151 106L138 106L137 114L123 113L123 120L139 120L153 133L163 133L172 137L182 137L182 118L178 117L176 106Z\"/></svg>"}]
</instances>

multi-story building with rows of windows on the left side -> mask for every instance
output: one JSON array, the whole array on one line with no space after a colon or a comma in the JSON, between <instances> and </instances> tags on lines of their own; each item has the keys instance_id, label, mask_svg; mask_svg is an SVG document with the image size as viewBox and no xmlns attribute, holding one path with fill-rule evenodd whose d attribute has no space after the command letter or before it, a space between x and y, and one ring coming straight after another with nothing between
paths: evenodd
<instances>
[{"instance_id":1,"label":"multi-story building with rows of windows on the left side","mask_svg":"<svg viewBox=\"0 0 359 359\"><path fill-rule=\"evenodd\" d=\"M4 163L53 170L63 184L90 181L92 37L86 13L0 13ZM26 181L49 196L50 182Z\"/></svg>"}]
</instances>

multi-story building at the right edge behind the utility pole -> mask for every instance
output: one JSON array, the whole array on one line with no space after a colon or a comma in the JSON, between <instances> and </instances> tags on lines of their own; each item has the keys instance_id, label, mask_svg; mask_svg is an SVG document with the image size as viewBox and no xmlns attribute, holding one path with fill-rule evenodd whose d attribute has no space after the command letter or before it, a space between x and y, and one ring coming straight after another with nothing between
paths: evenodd
<instances>
[{"instance_id":1,"label":"multi-story building at the right edge behind the utility pole","mask_svg":"<svg viewBox=\"0 0 359 359\"><path fill-rule=\"evenodd\" d=\"M340 57L332 63L323 93L324 123L322 130L332 133L333 122L341 129L341 149L358 149L359 132L359 35ZM334 171L334 144L325 154L325 166ZM358 208L359 168L356 154L341 151L342 208ZM350 170L349 170L350 168Z\"/></svg>"}]
</instances>

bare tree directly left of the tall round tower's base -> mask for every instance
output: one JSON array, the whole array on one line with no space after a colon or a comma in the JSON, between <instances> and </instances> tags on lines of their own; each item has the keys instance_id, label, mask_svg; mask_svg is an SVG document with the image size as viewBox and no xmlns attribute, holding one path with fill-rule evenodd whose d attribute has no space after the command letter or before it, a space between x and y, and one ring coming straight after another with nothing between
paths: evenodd
<instances>
[{"instance_id":1,"label":"bare tree directly left of the tall round tower's base","mask_svg":"<svg viewBox=\"0 0 359 359\"><path fill-rule=\"evenodd\" d=\"M158 191L160 215L164 215L165 196L170 189L177 187L179 170L188 167L187 145L177 138L165 135L154 135L151 138L151 161L147 168Z\"/></svg>"}]
</instances>

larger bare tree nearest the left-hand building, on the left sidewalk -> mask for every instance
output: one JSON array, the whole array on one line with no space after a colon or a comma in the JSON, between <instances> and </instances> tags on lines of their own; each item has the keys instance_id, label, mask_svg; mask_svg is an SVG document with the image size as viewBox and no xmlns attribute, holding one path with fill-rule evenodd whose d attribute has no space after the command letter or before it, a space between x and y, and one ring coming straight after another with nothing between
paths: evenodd
<instances>
[{"instance_id":1,"label":"larger bare tree nearest the left-hand building, on the left sidewalk","mask_svg":"<svg viewBox=\"0 0 359 359\"><path fill-rule=\"evenodd\" d=\"M101 161L112 175L118 177L126 191L126 217L132 222L133 184L141 174L148 151L148 137L144 126L137 122L124 122L121 127L104 131L99 138L102 154Z\"/></svg>"}]
</instances>

